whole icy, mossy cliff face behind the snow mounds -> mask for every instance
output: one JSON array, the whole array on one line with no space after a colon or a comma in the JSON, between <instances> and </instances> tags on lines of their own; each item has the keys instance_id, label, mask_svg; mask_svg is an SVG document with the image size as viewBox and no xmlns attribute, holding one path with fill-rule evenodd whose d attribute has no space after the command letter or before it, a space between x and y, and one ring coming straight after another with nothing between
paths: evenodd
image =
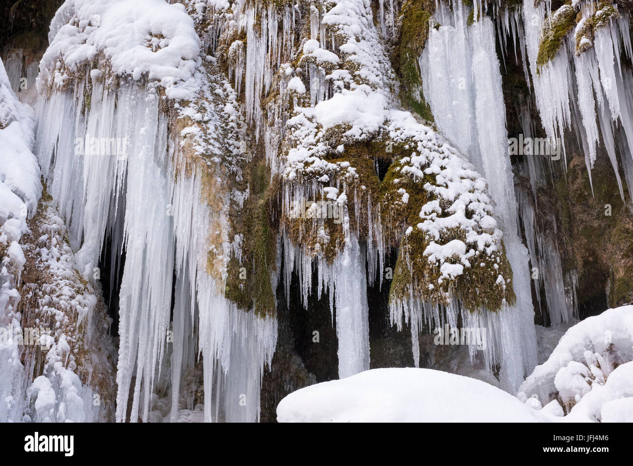
<instances>
[{"instance_id":1,"label":"whole icy, mossy cliff face behind the snow mounds","mask_svg":"<svg viewBox=\"0 0 633 466\"><path fill-rule=\"evenodd\" d=\"M625 6L58 6L16 3L0 37L45 193L8 186L5 315L56 322L54 351L15 348L15 415L274 420L411 365L515 392L535 321L633 299ZM432 344L444 324L484 348Z\"/></svg>"}]
</instances>

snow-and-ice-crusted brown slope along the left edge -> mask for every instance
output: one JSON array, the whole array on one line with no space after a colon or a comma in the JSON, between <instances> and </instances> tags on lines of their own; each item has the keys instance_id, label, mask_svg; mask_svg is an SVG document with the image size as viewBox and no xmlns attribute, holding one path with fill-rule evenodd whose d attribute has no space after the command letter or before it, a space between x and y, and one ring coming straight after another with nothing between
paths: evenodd
<instances>
[{"instance_id":1,"label":"snow-and-ice-crusted brown slope along the left edge","mask_svg":"<svg viewBox=\"0 0 633 466\"><path fill-rule=\"evenodd\" d=\"M81 283L63 220L40 201L34 115L18 101L1 63L0 111L0 419L105 419L99 389L108 372L99 358L107 358L110 347L101 337L106 329L97 325L104 318L95 310L99 291ZM31 282L42 273L46 283ZM84 355L84 345L91 355Z\"/></svg>"}]
</instances>

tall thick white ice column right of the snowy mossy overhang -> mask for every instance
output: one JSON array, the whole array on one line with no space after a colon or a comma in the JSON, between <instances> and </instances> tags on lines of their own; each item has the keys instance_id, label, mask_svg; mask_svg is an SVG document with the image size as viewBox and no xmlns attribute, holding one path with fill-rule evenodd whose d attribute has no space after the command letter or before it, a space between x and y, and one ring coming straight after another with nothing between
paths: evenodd
<instances>
[{"instance_id":1,"label":"tall thick white ice column right of the snowy mossy overhang","mask_svg":"<svg viewBox=\"0 0 633 466\"><path fill-rule=\"evenodd\" d=\"M442 4L436 17L442 27L431 30L420 60L423 91L433 114L447 115L437 120L439 129L458 149L471 155L497 203L517 304L484 316L496 327L492 334L501 357L501 385L513 392L536 365L536 334L527 251L517 231L494 27L489 18L467 27L460 1L453 12Z\"/></svg>"}]
</instances>

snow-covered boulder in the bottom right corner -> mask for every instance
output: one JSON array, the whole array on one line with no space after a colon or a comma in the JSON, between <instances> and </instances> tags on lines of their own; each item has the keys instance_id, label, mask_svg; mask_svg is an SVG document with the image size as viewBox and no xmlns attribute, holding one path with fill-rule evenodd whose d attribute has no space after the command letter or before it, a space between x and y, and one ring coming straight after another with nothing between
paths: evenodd
<instances>
[{"instance_id":1,"label":"snow-covered boulder in the bottom right corner","mask_svg":"<svg viewBox=\"0 0 633 466\"><path fill-rule=\"evenodd\" d=\"M633 422L632 360L633 306L609 309L573 325L517 397L565 422Z\"/></svg>"}]
</instances>

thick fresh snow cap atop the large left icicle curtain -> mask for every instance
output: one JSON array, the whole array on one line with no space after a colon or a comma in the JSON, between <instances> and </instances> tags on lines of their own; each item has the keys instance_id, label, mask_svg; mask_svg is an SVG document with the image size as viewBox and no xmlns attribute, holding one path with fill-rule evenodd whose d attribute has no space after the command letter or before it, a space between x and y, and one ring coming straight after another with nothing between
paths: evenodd
<instances>
[{"instance_id":1,"label":"thick fresh snow cap atop the large left icicle curtain","mask_svg":"<svg viewBox=\"0 0 633 466\"><path fill-rule=\"evenodd\" d=\"M163 0L68 0L51 22L49 42L40 63L44 85L64 85L103 54L112 73L156 80L182 99L191 92L178 84L200 63L193 20L182 4Z\"/></svg>"}]
</instances>

